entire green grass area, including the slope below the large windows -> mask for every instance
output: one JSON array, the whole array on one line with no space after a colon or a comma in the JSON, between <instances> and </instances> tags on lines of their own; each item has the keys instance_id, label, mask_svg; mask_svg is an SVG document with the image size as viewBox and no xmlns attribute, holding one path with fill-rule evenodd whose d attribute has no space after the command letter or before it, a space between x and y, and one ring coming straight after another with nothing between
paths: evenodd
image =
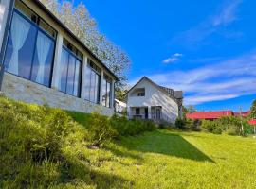
<instances>
[{"instance_id":1,"label":"entire green grass area, including the slope below the large windows","mask_svg":"<svg viewBox=\"0 0 256 189\"><path fill-rule=\"evenodd\" d=\"M52 111L0 98L0 188L256 188L252 137L157 129L89 149L88 114Z\"/></svg>"}]
</instances>

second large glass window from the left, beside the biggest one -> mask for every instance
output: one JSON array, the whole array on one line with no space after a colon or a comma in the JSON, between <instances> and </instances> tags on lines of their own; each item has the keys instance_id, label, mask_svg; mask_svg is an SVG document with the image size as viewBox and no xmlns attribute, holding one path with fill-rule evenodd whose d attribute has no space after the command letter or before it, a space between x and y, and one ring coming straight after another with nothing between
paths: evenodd
<instances>
[{"instance_id":1,"label":"second large glass window from the left, beside the biggest one","mask_svg":"<svg viewBox=\"0 0 256 189\"><path fill-rule=\"evenodd\" d=\"M63 47L60 67L59 90L80 97L82 60Z\"/></svg>"}]
</instances>

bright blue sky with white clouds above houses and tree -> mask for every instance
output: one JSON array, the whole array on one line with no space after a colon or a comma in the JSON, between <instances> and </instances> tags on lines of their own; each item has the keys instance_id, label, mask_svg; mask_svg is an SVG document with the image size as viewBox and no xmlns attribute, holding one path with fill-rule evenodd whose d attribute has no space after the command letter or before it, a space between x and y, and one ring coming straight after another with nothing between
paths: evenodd
<instances>
[{"instance_id":1,"label":"bright blue sky with white clouds above houses and tree","mask_svg":"<svg viewBox=\"0 0 256 189\"><path fill-rule=\"evenodd\" d=\"M130 84L150 77L205 111L247 110L256 98L255 0L83 3L132 60Z\"/></svg>"}]
</instances>

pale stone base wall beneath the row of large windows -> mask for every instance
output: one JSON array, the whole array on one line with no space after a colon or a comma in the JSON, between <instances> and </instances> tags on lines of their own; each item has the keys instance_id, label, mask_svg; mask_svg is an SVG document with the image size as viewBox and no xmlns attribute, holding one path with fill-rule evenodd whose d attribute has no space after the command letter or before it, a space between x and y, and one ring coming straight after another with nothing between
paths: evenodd
<instances>
[{"instance_id":1,"label":"pale stone base wall beneath the row of large windows","mask_svg":"<svg viewBox=\"0 0 256 189\"><path fill-rule=\"evenodd\" d=\"M2 93L5 96L39 105L48 104L50 107L60 108L75 112L101 112L101 114L111 116L114 109L94 104L81 98L64 94L55 89L47 88L22 77L16 77L5 73ZM1 94L0 94L1 95Z\"/></svg>"}]
</instances>

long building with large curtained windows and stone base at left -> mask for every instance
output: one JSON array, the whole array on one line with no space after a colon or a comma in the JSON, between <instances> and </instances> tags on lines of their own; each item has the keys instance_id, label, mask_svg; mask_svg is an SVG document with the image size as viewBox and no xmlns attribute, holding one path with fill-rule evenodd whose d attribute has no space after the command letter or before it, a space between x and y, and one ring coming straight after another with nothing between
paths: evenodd
<instances>
[{"instance_id":1,"label":"long building with large curtained windows and stone base at left","mask_svg":"<svg viewBox=\"0 0 256 189\"><path fill-rule=\"evenodd\" d=\"M27 103L114 113L118 77L39 0L0 0L0 92Z\"/></svg>"}]
</instances>

